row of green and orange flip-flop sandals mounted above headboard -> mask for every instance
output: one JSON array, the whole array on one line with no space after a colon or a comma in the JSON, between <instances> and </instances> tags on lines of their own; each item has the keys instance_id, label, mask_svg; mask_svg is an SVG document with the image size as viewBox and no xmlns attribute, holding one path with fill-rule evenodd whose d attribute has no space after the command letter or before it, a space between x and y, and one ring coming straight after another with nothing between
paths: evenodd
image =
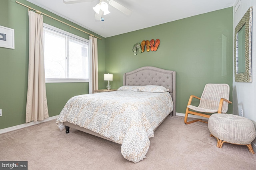
<instances>
[{"instance_id":1,"label":"row of green and orange flip-flop sandals mounted above headboard","mask_svg":"<svg viewBox=\"0 0 256 170\"><path fill-rule=\"evenodd\" d=\"M134 55L137 55L137 52L139 53L143 53L145 51L145 47L146 47L146 51L156 51L158 49L160 45L160 40L156 39L156 41L154 39L151 39L150 41L148 40L143 40L141 43L136 43L133 45L132 51L134 52Z\"/></svg>"}]
</instances>

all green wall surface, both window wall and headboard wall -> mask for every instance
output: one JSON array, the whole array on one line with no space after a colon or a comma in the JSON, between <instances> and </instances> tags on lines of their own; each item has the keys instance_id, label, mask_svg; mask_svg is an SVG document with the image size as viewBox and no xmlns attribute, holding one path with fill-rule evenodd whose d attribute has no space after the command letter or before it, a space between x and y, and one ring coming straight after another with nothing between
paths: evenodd
<instances>
[{"instance_id":1,"label":"all green wall surface, both window wall and headboard wall","mask_svg":"<svg viewBox=\"0 0 256 170\"><path fill-rule=\"evenodd\" d=\"M26 0L19 2L88 31ZM15 49L0 47L0 129L25 123L28 85L28 9L15 0L2 0L0 25L15 30ZM232 101L233 11L226 8L154 27L98 39L99 88L104 73L114 74L112 88L122 86L123 74L141 66L177 71L177 112L185 113L191 94L200 96L207 83L230 85ZM89 35L44 16L44 22L89 39ZM139 24L139 23L138 23ZM226 37L226 41L224 41ZM134 55L142 40L160 39L157 51ZM105 63L106 62L106 63ZM106 72L105 72L106 70ZM47 83L49 116L58 115L72 96L88 93L88 83ZM196 102L195 102L196 103ZM228 113L232 112L230 105Z\"/></svg>"}]
</instances>

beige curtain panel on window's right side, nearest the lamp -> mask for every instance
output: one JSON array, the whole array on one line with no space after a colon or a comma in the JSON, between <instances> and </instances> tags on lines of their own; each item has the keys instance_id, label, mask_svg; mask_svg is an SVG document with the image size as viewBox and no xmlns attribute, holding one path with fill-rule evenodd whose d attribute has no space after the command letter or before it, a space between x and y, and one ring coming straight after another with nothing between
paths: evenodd
<instances>
[{"instance_id":1,"label":"beige curtain panel on window's right side, nearest the lamp","mask_svg":"<svg viewBox=\"0 0 256 170\"><path fill-rule=\"evenodd\" d=\"M90 77L89 94L98 90L98 41L97 38L90 36Z\"/></svg>"}]
</instances>

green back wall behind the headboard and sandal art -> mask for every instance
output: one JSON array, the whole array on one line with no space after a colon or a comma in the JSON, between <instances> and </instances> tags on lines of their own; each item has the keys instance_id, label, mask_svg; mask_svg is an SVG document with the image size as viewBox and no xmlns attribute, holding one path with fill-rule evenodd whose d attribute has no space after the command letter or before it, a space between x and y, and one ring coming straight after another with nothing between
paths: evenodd
<instances>
[{"instance_id":1,"label":"green back wall behind the headboard and sandal art","mask_svg":"<svg viewBox=\"0 0 256 170\"><path fill-rule=\"evenodd\" d=\"M135 43L151 39L160 39L157 51L133 54ZM207 83L229 84L232 101L232 39L232 7L108 37L106 72L114 74L111 85L118 88L125 72L142 66L175 70L179 113L185 113L191 94L201 96Z\"/></svg>"}]
</instances>

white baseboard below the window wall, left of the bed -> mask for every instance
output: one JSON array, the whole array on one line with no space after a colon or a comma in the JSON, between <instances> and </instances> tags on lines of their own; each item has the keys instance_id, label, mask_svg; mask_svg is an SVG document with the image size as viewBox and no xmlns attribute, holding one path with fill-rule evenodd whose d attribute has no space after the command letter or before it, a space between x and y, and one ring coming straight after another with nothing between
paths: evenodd
<instances>
[{"instance_id":1,"label":"white baseboard below the window wall, left of the bed","mask_svg":"<svg viewBox=\"0 0 256 170\"><path fill-rule=\"evenodd\" d=\"M0 134L7 133L7 132L10 132L10 131L15 131L15 130L22 129L24 127L29 127L29 126L32 126L32 125L37 125L37 124L40 124L40 123L43 123L43 122L46 122L46 121L50 121L50 120L53 120L53 119L57 119L58 116L59 115L48 117L48 118L44 119L43 121L31 121L29 123L24 123L24 124L17 125L17 126L7 127L5 129L0 129Z\"/></svg>"}]
</instances>

